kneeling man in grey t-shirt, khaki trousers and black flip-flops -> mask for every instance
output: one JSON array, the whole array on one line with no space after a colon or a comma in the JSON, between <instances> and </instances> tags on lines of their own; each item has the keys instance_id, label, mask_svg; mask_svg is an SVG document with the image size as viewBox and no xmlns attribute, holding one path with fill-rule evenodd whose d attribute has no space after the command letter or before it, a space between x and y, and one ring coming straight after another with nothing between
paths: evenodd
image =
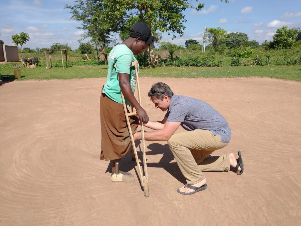
<instances>
[{"instance_id":1,"label":"kneeling man in grey t-shirt, khaki trousers and black flip-flops","mask_svg":"<svg viewBox=\"0 0 301 226\"><path fill-rule=\"evenodd\" d=\"M230 170L238 175L244 171L240 151L222 156L210 154L225 147L231 139L231 129L225 118L209 104L188 96L174 95L165 83L155 83L148 92L155 108L167 111L162 121L149 121L144 126L156 131L144 133L145 140L167 140L187 183L178 192L190 195L207 188L202 171ZM175 133L179 126L186 132ZM175 134L174 134L175 133ZM134 140L141 140L136 132Z\"/></svg>"}]
</instances>

